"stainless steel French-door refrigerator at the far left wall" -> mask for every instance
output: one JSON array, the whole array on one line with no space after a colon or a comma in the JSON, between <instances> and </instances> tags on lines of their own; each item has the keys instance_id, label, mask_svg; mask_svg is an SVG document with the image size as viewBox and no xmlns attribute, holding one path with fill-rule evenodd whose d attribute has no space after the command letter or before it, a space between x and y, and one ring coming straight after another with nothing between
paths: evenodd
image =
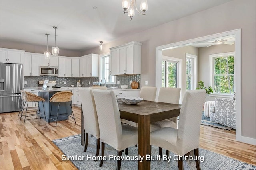
<instances>
[{"instance_id":1,"label":"stainless steel French-door refrigerator at the far left wall","mask_svg":"<svg viewBox=\"0 0 256 170\"><path fill-rule=\"evenodd\" d=\"M0 113L20 109L22 89L22 64L0 63Z\"/></svg>"}]
</instances>

